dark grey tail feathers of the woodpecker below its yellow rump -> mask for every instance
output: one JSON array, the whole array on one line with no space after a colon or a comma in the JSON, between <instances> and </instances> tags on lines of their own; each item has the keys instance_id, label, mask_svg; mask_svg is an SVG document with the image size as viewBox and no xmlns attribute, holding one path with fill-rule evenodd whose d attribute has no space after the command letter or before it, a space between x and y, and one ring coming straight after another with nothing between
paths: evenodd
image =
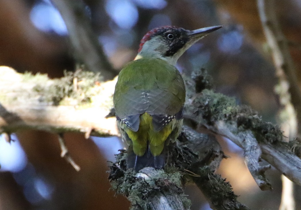
<instances>
[{"instance_id":1,"label":"dark grey tail feathers of the woodpecker below its yellow rump","mask_svg":"<svg viewBox=\"0 0 301 210\"><path fill-rule=\"evenodd\" d=\"M159 156L154 157L149 151L145 152L143 156L138 156L134 154L132 145L130 145L127 155L127 168L134 168L135 171L138 172L145 167L153 167L157 169L163 168L168 156L168 151L165 146Z\"/></svg>"}]
</instances>

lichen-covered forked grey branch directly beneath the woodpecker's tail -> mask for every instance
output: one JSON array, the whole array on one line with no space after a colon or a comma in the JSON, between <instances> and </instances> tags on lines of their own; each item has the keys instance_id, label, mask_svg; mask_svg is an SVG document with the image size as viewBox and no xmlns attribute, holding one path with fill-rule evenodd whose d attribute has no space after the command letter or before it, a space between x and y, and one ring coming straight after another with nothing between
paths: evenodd
<instances>
[{"instance_id":1,"label":"lichen-covered forked grey branch directly beneath the woodpecker's tail","mask_svg":"<svg viewBox=\"0 0 301 210\"><path fill-rule=\"evenodd\" d=\"M131 201L132 209L182 210L190 206L183 186L195 182L212 209L247 210L237 201L231 185L214 174L224 158L215 137L184 127L178 140L169 145L169 160L164 170L144 168L139 173L128 170L126 151L122 150L110 166L113 189Z\"/></svg>"}]
</instances>

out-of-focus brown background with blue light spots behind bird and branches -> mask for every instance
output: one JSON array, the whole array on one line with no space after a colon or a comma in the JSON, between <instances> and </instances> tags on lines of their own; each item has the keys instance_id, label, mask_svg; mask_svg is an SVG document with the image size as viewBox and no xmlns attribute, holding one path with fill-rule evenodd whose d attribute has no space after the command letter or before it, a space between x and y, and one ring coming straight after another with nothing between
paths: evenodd
<instances>
[{"instance_id":1,"label":"out-of-focus brown background with blue light spots behind bird and branches","mask_svg":"<svg viewBox=\"0 0 301 210\"><path fill-rule=\"evenodd\" d=\"M206 68L217 92L250 105L265 121L277 123L278 104L273 92L274 67L255 0L85 0L86 15L116 69L135 58L140 39L154 27L175 25L193 30L224 27L193 45L178 61L185 75ZM276 0L278 20L290 41L296 69L301 65L301 1ZM0 0L0 65L19 72L46 73L51 78L74 70L68 31L50 0ZM297 71L301 81L300 71ZM60 157L57 136L38 131L0 137L0 210L8 209L129 209L115 196L107 180L107 161L123 146L116 138L84 139L65 134L70 155L81 167L76 172ZM240 148L219 139L226 155L218 173L251 209L278 209L280 173L267 172L274 190L262 192L247 170ZM186 193L193 210L209 205L195 186ZM301 209L301 188L296 186L296 209Z\"/></svg>"}]
</instances>

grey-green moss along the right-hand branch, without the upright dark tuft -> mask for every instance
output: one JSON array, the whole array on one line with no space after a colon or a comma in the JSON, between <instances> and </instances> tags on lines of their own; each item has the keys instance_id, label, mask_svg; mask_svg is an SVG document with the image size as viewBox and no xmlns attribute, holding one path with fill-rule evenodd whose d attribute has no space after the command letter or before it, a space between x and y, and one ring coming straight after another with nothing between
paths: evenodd
<instances>
[{"instance_id":1,"label":"grey-green moss along the right-hand branch, without the upright dark tuft","mask_svg":"<svg viewBox=\"0 0 301 210\"><path fill-rule=\"evenodd\" d=\"M236 105L235 99L212 90L203 90L193 101L193 112L199 116L199 122L214 124L224 121L228 127L235 128L232 133L251 130L258 141L274 142L282 140L283 135L279 126L264 122L256 111L248 106Z\"/></svg>"}]
</instances>

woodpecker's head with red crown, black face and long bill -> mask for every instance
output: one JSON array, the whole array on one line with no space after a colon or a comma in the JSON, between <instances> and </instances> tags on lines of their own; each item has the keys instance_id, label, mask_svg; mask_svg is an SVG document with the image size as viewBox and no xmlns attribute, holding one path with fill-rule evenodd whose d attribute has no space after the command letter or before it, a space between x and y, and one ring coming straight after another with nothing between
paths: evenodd
<instances>
[{"instance_id":1,"label":"woodpecker's head with red crown, black face and long bill","mask_svg":"<svg viewBox=\"0 0 301 210\"><path fill-rule=\"evenodd\" d=\"M222 26L212 26L197 30L185 30L175 26L165 26L149 31L141 39L135 60L156 57L175 65L178 58L198 40Z\"/></svg>"}]
</instances>

